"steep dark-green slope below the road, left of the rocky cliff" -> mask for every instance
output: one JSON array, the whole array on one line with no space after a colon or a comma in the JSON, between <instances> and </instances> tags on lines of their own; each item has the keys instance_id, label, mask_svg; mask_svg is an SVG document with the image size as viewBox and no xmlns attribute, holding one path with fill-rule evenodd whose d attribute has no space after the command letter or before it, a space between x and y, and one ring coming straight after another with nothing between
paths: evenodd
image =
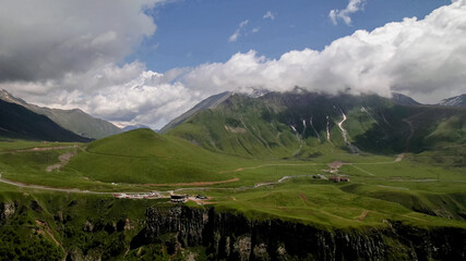
<instances>
[{"instance_id":1,"label":"steep dark-green slope below the road, left of the rocky cliff","mask_svg":"<svg viewBox=\"0 0 466 261\"><path fill-rule=\"evenodd\" d=\"M64 192L12 192L0 185L1 260L141 260L131 241L155 201ZM158 201L159 203L163 203ZM11 211L13 210L13 211ZM158 246L158 254L169 254ZM154 251L155 253L155 251ZM123 258L124 257L124 258Z\"/></svg>"}]
</instances>

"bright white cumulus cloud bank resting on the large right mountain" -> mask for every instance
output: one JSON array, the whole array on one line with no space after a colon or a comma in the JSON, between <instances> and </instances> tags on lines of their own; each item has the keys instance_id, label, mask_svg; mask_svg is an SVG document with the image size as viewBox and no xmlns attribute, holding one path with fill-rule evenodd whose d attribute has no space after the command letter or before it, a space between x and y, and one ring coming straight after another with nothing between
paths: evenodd
<instances>
[{"instance_id":1,"label":"bright white cumulus cloud bank resting on the large right mountain","mask_svg":"<svg viewBox=\"0 0 466 261\"><path fill-rule=\"evenodd\" d=\"M434 102L464 92L466 83L466 1L434 10L423 20L405 18L372 32L357 30L322 51L295 50L277 60L255 51L225 63L203 64L183 77L195 89L266 88L337 94L391 91Z\"/></svg>"}]
</instances>

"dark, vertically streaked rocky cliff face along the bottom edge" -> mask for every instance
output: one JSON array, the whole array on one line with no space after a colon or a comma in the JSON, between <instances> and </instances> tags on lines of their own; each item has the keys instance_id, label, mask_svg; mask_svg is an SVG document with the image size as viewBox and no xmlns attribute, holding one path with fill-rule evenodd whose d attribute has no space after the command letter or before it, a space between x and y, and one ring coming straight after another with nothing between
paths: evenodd
<instances>
[{"instance_id":1,"label":"dark, vertically streaked rocky cliff face along the bottom edge","mask_svg":"<svg viewBox=\"0 0 466 261\"><path fill-rule=\"evenodd\" d=\"M465 260L466 231L386 228L325 231L280 220L254 221L213 208L150 208L145 243L170 237L168 249L204 246L213 260Z\"/></svg>"}]
</instances>

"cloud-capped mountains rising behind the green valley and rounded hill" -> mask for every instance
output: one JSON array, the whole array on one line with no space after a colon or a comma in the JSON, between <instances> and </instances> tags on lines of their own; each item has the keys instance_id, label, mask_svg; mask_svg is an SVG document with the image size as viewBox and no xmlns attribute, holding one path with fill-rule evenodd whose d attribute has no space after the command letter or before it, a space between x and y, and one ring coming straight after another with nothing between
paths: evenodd
<instances>
[{"instance_id":1,"label":"cloud-capped mountains rising behind the green valley and rounded hill","mask_svg":"<svg viewBox=\"0 0 466 261\"><path fill-rule=\"evenodd\" d=\"M5 90L0 90L0 100L3 108L9 108L2 112L1 135L5 137L56 140L32 133L43 130L31 127L32 120L39 117L29 112L45 115L51 123L76 135L60 140L99 139L147 127L134 125L120 129L79 109L29 104ZM201 101L164 126L160 134L181 137L212 151L246 157L309 158L323 148L333 147L355 153L420 152L444 142L464 142L465 100L466 95L462 95L438 105L426 105L395 92L387 99L375 95L328 96L302 89L261 91L260 95L227 91ZM26 113L28 120L22 120L32 124L29 127L15 126L20 121L13 119L20 119L20 111L23 114L29 111ZM7 115L13 112L15 117ZM58 129L56 126L47 128Z\"/></svg>"}]
</instances>

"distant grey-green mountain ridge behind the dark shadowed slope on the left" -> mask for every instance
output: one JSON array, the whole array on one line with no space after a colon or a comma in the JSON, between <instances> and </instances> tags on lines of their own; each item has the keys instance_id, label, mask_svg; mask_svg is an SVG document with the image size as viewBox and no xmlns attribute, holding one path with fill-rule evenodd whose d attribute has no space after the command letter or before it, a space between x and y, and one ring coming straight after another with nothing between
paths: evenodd
<instances>
[{"instance_id":1,"label":"distant grey-green mountain ridge behind the dark shadowed slope on the left","mask_svg":"<svg viewBox=\"0 0 466 261\"><path fill-rule=\"evenodd\" d=\"M35 113L46 115L63 128L83 137L98 139L122 132L113 124L95 119L79 109L60 110L29 104L22 99L13 97L5 90L0 90L0 99L22 105Z\"/></svg>"}]
</instances>

